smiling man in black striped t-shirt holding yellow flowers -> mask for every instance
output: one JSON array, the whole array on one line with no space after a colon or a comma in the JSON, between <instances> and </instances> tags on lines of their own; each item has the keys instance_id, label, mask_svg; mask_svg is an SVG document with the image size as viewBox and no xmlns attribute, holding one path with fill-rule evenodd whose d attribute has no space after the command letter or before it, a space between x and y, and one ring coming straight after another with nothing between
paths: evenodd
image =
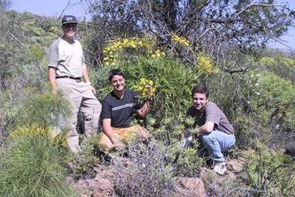
<instances>
[{"instance_id":1,"label":"smiling man in black striped t-shirt holding yellow flowers","mask_svg":"<svg viewBox=\"0 0 295 197\"><path fill-rule=\"evenodd\" d=\"M150 101L143 106L137 101L134 91L125 89L125 75L120 69L113 69L108 76L113 91L102 101L101 120L103 134L100 136L99 145L105 151L120 150L124 147L123 141L131 136L148 137L148 131L141 126L130 126L135 118L135 113L140 118L148 115Z\"/></svg>"}]
</instances>

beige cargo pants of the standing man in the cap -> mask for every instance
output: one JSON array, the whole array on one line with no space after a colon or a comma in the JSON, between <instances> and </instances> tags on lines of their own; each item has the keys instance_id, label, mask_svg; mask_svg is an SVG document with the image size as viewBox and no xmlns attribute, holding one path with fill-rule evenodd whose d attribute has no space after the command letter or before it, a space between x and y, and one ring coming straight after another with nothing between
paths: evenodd
<instances>
[{"instance_id":1,"label":"beige cargo pants of the standing man in the cap","mask_svg":"<svg viewBox=\"0 0 295 197\"><path fill-rule=\"evenodd\" d=\"M71 116L69 124L71 130L68 131L68 147L73 153L80 151L78 132L76 124L78 121L78 111L83 114L85 122L85 135L87 138L95 136L98 131L98 121L100 118L101 104L95 95L90 91L90 85L75 79L56 79L58 91L71 103Z\"/></svg>"}]
</instances>

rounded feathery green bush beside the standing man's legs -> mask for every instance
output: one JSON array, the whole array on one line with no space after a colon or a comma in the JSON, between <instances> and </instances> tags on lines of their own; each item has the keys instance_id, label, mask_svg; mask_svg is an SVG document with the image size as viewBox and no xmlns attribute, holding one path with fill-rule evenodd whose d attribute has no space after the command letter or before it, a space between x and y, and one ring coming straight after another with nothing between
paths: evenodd
<instances>
[{"instance_id":1,"label":"rounded feathery green bush beside the standing man's legs","mask_svg":"<svg viewBox=\"0 0 295 197\"><path fill-rule=\"evenodd\" d=\"M70 115L69 103L61 95L34 94L24 101L13 117L12 127L33 123L42 127L65 128Z\"/></svg>"}]
</instances>

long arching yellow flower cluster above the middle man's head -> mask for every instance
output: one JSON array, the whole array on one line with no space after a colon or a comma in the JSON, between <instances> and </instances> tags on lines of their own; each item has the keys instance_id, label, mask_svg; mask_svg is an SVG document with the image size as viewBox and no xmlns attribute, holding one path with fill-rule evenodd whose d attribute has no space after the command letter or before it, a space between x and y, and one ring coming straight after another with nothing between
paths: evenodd
<instances>
[{"instance_id":1,"label":"long arching yellow flower cluster above the middle man's head","mask_svg":"<svg viewBox=\"0 0 295 197\"><path fill-rule=\"evenodd\" d=\"M121 49L125 49L125 48L137 49L137 48L148 47L150 45L151 45L150 41L142 41L138 38L118 39L116 41L111 42L109 46L103 49L103 54L105 55L105 57L103 58L103 62L107 66L109 65L114 66L115 63L117 62L117 56L115 56L115 54Z\"/></svg>"}]
</instances>

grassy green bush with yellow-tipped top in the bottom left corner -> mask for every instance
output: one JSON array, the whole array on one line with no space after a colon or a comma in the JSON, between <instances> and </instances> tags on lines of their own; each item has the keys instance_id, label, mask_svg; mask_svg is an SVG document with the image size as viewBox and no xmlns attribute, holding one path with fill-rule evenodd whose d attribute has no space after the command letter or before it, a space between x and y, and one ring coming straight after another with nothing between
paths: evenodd
<instances>
[{"instance_id":1,"label":"grassy green bush with yellow-tipped top in the bottom left corner","mask_svg":"<svg viewBox=\"0 0 295 197\"><path fill-rule=\"evenodd\" d=\"M19 128L38 131L42 128ZM43 131L46 133L46 130ZM65 183L67 155L42 135L26 135L0 150L0 196L71 196Z\"/></svg>"}]
</instances>

